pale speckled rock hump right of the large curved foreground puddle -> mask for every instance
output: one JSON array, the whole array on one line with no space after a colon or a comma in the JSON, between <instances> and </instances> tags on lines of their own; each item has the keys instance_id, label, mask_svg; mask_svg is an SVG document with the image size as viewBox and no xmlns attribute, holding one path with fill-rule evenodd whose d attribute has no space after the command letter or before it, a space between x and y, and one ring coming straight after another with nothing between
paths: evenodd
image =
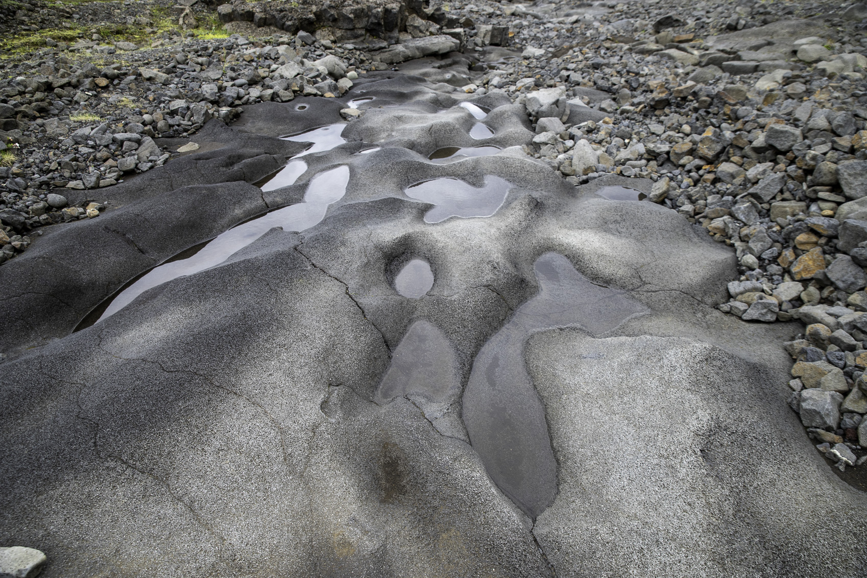
<instances>
[{"instance_id":1,"label":"pale speckled rock hump right of the large curved foreground puddle","mask_svg":"<svg viewBox=\"0 0 867 578\"><path fill-rule=\"evenodd\" d=\"M803 523L805 511L827 509L825 523L845 527L863 495L828 471L778 403L785 392L758 367L692 339L578 330L539 334L527 358L561 464L559 494L534 533L555 568L580 568L563 575L701 576L720 563L724 575L750 576L863 568ZM624 374L640 375L641 386L610 378ZM860 540L855 529L837 536L850 547Z\"/></svg>"}]
</instances>

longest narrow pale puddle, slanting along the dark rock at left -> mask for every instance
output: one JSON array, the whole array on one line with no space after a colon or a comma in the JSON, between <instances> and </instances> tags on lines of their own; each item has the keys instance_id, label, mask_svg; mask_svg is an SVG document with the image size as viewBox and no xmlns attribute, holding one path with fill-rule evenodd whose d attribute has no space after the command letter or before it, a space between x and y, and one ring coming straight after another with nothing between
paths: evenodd
<instances>
[{"instance_id":1,"label":"longest narrow pale puddle, slanting along the dark rock at left","mask_svg":"<svg viewBox=\"0 0 867 578\"><path fill-rule=\"evenodd\" d=\"M121 291L108 305L98 321L114 315L147 289L179 276L192 275L223 263L238 250L262 237L274 227L281 227L284 231L309 229L325 218L328 205L343 197L347 185L349 185L349 166L338 166L336 169L320 172L313 179L310 179L310 185L307 186L302 203L277 209L277 211L271 211L262 217L239 224L205 244L192 257L169 260L150 270L145 276Z\"/></svg>"}]
</instances>

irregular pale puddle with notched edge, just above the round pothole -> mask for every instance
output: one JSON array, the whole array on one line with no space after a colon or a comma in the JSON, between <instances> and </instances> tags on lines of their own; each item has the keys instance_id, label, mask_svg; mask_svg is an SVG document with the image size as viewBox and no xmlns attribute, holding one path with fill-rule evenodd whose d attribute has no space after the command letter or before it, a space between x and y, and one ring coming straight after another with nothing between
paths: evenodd
<instances>
[{"instance_id":1,"label":"irregular pale puddle with notched edge, just above the round pothole","mask_svg":"<svg viewBox=\"0 0 867 578\"><path fill-rule=\"evenodd\" d=\"M491 217L499 210L512 184L493 175L485 177L485 185L476 188L460 179L433 179L408 187L404 193L433 209L425 213L425 223L440 223L449 217Z\"/></svg>"}]
</instances>

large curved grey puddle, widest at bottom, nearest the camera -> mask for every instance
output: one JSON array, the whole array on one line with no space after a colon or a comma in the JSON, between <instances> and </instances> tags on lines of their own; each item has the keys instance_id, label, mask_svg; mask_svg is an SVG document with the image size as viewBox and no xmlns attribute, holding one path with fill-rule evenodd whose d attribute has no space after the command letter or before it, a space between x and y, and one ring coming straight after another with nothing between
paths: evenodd
<instances>
[{"instance_id":1,"label":"large curved grey puddle, widest at bottom, nearest the camera","mask_svg":"<svg viewBox=\"0 0 867 578\"><path fill-rule=\"evenodd\" d=\"M488 475L535 518L557 493L557 464L544 406L524 363L527 339L552 328L604 334L647 309L625 291L590 283L557 253L538 257L533 268L539 292L479 351L463 395L463 417Z\"/></svg>"}]
</instances>

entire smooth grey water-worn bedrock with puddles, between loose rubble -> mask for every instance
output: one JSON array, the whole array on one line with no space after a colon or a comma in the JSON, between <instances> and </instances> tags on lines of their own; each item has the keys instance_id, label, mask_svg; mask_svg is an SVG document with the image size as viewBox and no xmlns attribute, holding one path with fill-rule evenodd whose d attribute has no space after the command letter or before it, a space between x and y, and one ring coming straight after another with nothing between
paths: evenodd
<instances>
[{"instance_id":1,"label":"entire smooth grey water-worn bedrock with puddles, between loose rubble","mask_svg":"<svg viewBox=\"0 0 867 578\"><path fill-rule=\"evenodd\" d=\"M614 6L561 8L525 17ZM839 425L812 399L839 409L854 354L834 373L816 325L853 312L746 322L793 283L725 242L746 201L714 239L724 197L675 184L711 171L649 166L593 89L479 89L542 50L479 26L473 59L403 38L338 94L206 122L3 264L3 541L49 576L863 573L864 492L801 423Z\"/></svg>"}]
</instances>

